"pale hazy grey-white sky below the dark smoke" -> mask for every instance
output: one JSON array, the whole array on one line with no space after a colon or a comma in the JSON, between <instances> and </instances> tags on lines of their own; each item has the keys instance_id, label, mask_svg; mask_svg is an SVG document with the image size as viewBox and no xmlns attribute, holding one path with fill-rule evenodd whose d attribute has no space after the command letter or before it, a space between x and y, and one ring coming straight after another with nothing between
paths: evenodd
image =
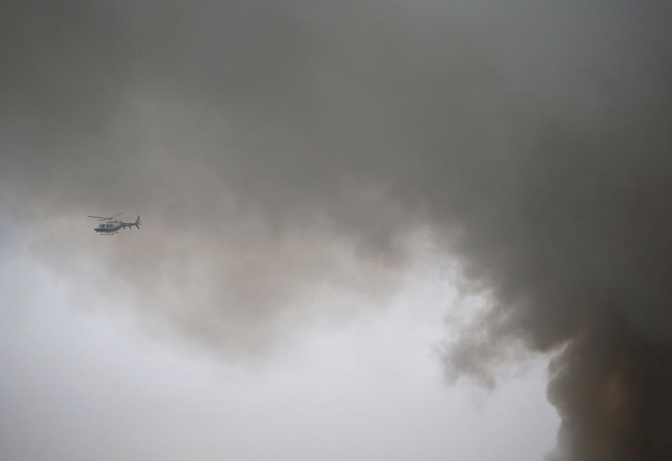
<instances>
[{"instance_id":1,"label":"pale hazy grey-white sky below the dark smoke","mask_svg":"<svg viewBox=\"0 0 672 461\"><path fill-rule=\"evenodd\" d=\"M538 460L554 444L546 360L493 392L445 385L442 318L477 301L461 305L436 271L416 271L384 311L232 363L148 334L123 297L5 262L6 459Z\"/></svg>"}]
</instances>

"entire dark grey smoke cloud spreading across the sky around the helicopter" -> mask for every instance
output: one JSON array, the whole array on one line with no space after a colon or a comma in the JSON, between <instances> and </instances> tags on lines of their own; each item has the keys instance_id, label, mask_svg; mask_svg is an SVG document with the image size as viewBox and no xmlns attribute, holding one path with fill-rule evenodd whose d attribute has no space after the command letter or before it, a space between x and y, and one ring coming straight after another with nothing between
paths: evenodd
<instances>
[{"instance_id":1,"label":"entire dark grey smoke cloud spreading across the sky around the helicopter","mask_svg":"<svg viewBox=\"0 0 672 461\"><path fill-rule=\"evenodd\" d=\"M449 368L561 348L551 459L672 454L668 6L0 8L3 214L48 264L235 353L384 299L430 229L492 301ZM151 239L66 238L118 211Z\"/></svg>"}]
</instances>

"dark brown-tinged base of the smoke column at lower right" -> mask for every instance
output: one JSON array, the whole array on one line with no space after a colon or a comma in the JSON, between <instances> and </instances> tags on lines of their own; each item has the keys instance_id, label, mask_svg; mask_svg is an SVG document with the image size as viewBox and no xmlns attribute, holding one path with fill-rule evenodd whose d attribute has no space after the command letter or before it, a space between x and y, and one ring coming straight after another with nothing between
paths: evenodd
<instances>
[{"instance_id":1,"label":"dark brown-tinged base of the smoke column at lower right","mask_svg":"<svg viewBox=\"0 0 672 461\"><path fill-rule=\"evenodd\" d=\"M551 460L664 460L672 452L671 348L618 316L585 325L551 364L549 400L563 417Z\"/></svg>"}]
</instances>

